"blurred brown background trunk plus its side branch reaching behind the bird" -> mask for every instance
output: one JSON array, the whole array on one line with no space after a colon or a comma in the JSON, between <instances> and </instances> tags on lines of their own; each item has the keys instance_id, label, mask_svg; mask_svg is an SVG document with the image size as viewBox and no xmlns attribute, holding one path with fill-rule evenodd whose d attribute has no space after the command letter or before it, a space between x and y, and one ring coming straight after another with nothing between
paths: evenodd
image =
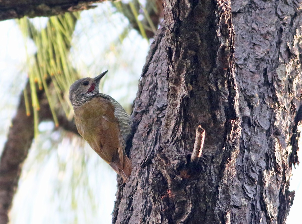
<instances>
[{"instance_id":1,"label":"blurred brown background trunk plus its side branch reaching behind the bird","mask_svg":"<svg viewBox=\"0 0 302 224\"><path fill-rule=\"evenodd\" d=\"M50 81L48 81L48 83L50 83ZM29 82L25 88L27 89L27 98L30 100L29 104L31 105ZM37 92L37 96L41 108L39 111L39 120L52 120L53 117L45 92L40 90ZM60 127L78 134L75 123L68 121L66 116L58 115L58 120ZM24 95L22 92L17 113L9 128L7 141L0 159L0 224L8 223L8 211L18 187L23 162L27 158L33 139L34 117L32 112L30 116L26 114Z\"/></svg>"}]
</instances>

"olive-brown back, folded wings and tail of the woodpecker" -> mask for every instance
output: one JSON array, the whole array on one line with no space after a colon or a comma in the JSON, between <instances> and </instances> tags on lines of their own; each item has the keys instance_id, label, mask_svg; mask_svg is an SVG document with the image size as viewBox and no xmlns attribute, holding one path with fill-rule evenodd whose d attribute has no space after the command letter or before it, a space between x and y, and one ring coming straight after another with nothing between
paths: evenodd
<instances>
[{"instance_id":1,"label":"olive-brown back, folded wings and tail of the woodpecker","mask_svg":"<svg viewBox=\"0 0 302 224\"><path fill-rule=\"evenodd\" d=\"M94 97L75 110L75 119L82 137L126 181L132 167L124 153L125 143L112 103L103 97Z\"/></svg>"}]
</instances>

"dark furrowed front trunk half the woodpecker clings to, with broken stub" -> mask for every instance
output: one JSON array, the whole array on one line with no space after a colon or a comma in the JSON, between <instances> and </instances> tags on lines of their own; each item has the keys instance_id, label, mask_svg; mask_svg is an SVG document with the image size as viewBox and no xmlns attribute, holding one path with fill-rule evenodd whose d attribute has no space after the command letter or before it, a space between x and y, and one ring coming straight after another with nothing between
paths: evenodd
<instances>
[{"instance_id":1,"label":"dark furrowed front trunk half the woodpecker clings to, with broken stub","mask_svg":"<svg viewBox=\"0 0 302 224\"><path fill-rule=\"evenodd\" d=\"M113 223L229 219L239 153L234 33L226 1L164 1L133 109L133 171L119 182ZM190 166L195 130L202 159Z\"/></svg>"}]
</instances>

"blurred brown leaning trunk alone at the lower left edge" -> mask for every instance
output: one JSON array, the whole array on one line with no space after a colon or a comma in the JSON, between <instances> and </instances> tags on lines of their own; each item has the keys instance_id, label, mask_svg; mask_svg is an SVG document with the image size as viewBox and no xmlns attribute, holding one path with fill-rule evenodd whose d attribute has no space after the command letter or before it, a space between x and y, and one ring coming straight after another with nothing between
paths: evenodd
<instances>
[{"instance_id":1,"label":"blurred brown leaning trunk alone at the lower left edge","mask_svg":"<svg viewBox=\"0 0 302 224\"><path fill-rule=\"evenodd\" d=\"M30 84L25 87L30 93ZM41 99L39 94L39 99ZM31 99L29 97L29 99ZM34 116L26 115L24 96L18 106L17 114L12 120L8 136L0 161L0 223L8 222L8 210L18 186L21 168L27 157L28 150L34 139Z\"/></svg>"}]
</instances>

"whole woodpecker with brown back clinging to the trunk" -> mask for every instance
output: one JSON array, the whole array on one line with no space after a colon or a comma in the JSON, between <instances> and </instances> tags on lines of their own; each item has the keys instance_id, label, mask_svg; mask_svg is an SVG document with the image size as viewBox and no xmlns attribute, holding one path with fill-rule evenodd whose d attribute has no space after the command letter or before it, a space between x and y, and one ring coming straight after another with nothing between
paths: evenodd
<instances>
[{"instance_id":1,"label":"whole woodpecker with brown back clinging to the trunk","mask_svg":"<svg viewBox=\"0 0 302 224\"><path fill-rule=\"evenodd\" d=\"M126 182L132 170L125 153L132 121L117 101L99 92L100 80L107 72L76 80L69 89L69 100L79 134Z\"/></svg>"}]
</instances>

